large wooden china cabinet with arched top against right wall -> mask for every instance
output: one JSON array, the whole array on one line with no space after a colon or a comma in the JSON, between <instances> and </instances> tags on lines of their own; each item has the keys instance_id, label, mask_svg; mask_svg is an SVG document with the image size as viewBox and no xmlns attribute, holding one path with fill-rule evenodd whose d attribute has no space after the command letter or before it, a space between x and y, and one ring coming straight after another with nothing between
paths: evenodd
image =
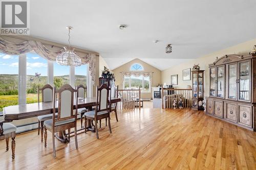
<instances>
[{"instance_id":1,"label":"large wooden china cabinet with arched top against right wall","mask_svg":"<svg viewBox=\"0 0 256 170\"><path fill-rule=\"evenodd\" d=\"M256 54L225 55L209 64L206 114L256 131Z\"/></svg>"}]
</instances>

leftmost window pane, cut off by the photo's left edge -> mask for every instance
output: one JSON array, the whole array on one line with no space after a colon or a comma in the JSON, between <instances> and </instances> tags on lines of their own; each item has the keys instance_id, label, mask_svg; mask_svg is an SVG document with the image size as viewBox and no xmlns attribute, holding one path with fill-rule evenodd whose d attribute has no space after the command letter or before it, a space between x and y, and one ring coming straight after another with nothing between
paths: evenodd
<instances>
[{"instance_id":1,"label":"leftmost window pane, cut off by the photo's left edge","mask_svg":"<svg viewBox=\"0 0 256 170\"><path fill-rule=\"evenodd\" d=\"M18 56L0 53L0 112L18 104Z\"/></svg>"}]
</instances>

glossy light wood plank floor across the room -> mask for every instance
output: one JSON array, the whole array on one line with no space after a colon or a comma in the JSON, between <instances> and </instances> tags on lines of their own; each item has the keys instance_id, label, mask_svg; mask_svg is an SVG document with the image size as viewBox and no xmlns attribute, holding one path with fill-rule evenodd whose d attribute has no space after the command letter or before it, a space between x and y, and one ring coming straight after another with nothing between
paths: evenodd
<instances>
[{"instance_id":1,"label":"glossy light wood plank floor across the room","mask_svg":"<svg viewBox=\"0 0 256 170\"><path fill-rule=\"evenodd\" d=\"M103 123L104 124L104 123ZM80 125L78 123L78 125ZM256 169L256 133L209 117L202 111L141 109L112 114L112 134L78 135L48 146L37 131L16 137L16 158L0 141L0 169Z\"/></svg>"}]
</instances>

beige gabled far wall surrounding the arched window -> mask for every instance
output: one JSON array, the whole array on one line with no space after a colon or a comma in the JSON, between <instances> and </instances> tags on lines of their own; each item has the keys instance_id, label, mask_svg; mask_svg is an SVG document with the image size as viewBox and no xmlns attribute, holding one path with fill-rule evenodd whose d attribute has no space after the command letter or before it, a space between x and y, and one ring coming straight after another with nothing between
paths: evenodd
<instances>
[{"instance_id":1,"label":"beige gabled far wall surrounding the arched window","mask_svg":"<svg viewBox=\"0 0 256 170\"><path fill-rule=\"evenodd\" d=\"M139 59L134 59L128 63L125 63L124 65L116 68L113 70L115 78L116 78L116 85L119 86L119 89L122 89L122 74L120 72L129 72L130 68L133 64L138 63L141 64L143 67L144 72L154 72L152 76L152 86L157 86L158 84L161 83L161 71L155 67L153 67L150 64L147 64ZM147 93L142 93L141 98L151 98L152 93L147 92Z\"/></svg>"}]
</instances>

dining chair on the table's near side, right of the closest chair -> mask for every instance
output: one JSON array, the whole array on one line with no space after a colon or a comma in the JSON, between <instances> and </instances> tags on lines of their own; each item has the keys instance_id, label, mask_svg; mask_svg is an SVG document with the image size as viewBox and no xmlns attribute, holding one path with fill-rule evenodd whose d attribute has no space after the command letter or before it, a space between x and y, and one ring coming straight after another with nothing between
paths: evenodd
<instances>
[{"instance_id":1,"label":"dining chair on the table's near side, right of the closest chair","mask_svg":"<svg viewBox=\"0 0 256 170\"><path fill-rule=\"evenodd\" d=\"M84 113L84 120L87 127L87 120L91 121L94 120L94 127L96 131L96 137L99 139L98 134L98 126L97 122L98 120L107 118L109 120L109 131L111 131L111 125L110 125L110 109L111 109L111 98L109 99L109 93L111 93L111 88L108 87L106 84L102 84L100 87L97 86L97 100L96 100L96 108L95 110L89 111ZM84 129L84 132L86 133L87 129Z\"/></svg>"}]
</instances>

